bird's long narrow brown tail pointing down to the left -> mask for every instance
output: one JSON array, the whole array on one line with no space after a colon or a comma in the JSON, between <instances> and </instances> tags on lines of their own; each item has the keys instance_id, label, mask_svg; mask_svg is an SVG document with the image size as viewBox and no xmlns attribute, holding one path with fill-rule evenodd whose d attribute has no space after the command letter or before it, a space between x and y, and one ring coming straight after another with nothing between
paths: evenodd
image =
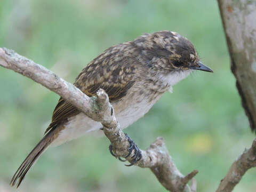
<instances>
[{"instance_id":1,"label":"bird's long narrow brown tail pointing down to the left","mask_svg":"<svg viewBox=\"0 0 256 192\"><path fill-rule=\"evenodd\" d=\"M30 152L30 154L26 157L26 159L22 162L19 169L13 175L13 178L10 182L11 186L14 186L18 181L17 188L20 186L20 183L25 178L30 167L36 162L38 157L42 155L42 153L49 147L49 145L53 142L54 139L58 137L59 129L55 127L55 129L50 130L41 141L36 145L36 147Z\"/></svg>"}]
</instances>

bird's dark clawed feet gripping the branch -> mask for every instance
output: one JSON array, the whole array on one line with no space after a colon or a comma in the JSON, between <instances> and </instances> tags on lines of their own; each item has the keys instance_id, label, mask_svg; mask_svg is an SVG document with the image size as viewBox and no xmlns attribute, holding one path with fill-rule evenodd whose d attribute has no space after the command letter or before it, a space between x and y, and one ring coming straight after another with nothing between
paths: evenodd
<instances>
[{"instance_id":1,"label":"bird's dark clawed feet gripping the branch","mask_svg":"<svg viewBox=\"0 0 256 192\"><path fill-rule=\"evenodd\" d=\"M140 161L141 157L142 157L142 154L141 154L141 150L139 149L139 147L136 145L136 143L125 133L125 136L128 140L128 142L130 143L130 146L129 146L129 153L124 157L124 158L127 158L129 157L131 154L132 154L132 151L134 150L134 155L131 157L133 159L132 163L129 164L129 165L125 165L125 166L132 166L134 165L135 163L137 163L138 161ZM113 146L112 144L110 144L109 146L109 151L110 151L110 154L113 155L114 157L117 157L114 152L113 152ZM122 162L125 162L126 160L125 159L122 159L121 157L118 157L119 161L122 161Z\"/></svg>"}]
</instances>

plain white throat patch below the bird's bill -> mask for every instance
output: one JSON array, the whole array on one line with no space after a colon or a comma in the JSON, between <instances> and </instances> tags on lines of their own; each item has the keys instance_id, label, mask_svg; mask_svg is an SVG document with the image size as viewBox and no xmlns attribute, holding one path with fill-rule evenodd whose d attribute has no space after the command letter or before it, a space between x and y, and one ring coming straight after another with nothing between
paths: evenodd
<instances>
[{"instance_id":1,"label":"plain white throat patch below the bird's bill","mask_svg":"<svg viewBox=\"0 0 256 192\"><path fill-rule=\"evenodd\" d=\"M164 84L170 86L169 92L172 93L172 86L180 82L182 79L185 79L190 74L190 72L191 70L175 71L171 72L168 75L161 75L159 76L159 78Z\"/></svg>"}]
</instances>

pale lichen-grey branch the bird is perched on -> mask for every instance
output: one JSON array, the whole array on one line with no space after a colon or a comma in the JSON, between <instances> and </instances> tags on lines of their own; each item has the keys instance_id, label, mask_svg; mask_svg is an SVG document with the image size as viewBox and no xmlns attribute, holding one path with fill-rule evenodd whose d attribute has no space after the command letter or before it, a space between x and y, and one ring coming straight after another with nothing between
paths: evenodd
<instances>
[{"instance_id":1,"label":"pale lichen-grey branch the bird is perched on","mask_svg":"<svg viewBox=\"0 0 256 192\"><path fill-rule=\"evenodd\" d=\"M73 84L64 81L52 71L6 48L0 48L0 66L33 79L47 89L59 94L94 121L101 122L104 126L103 131L113 145L115 154L125 157L129 153L130 143L127 141L124 132L119 129L114 109L109 103L108 95L104 90L98 90L96 97L89 98ZM133 153L134 151L132 155ZM130 163L132 162L132 155L126 158ZM196 190L195 181L193 181L192 190L187 183L195 177L198 171L193 171L184 177L172 161L163 138L157 138L147 150L142 150L142 158L135 165L150 168L158 181L169 191L190 192Z\"/></svg>"}]
</instances>

